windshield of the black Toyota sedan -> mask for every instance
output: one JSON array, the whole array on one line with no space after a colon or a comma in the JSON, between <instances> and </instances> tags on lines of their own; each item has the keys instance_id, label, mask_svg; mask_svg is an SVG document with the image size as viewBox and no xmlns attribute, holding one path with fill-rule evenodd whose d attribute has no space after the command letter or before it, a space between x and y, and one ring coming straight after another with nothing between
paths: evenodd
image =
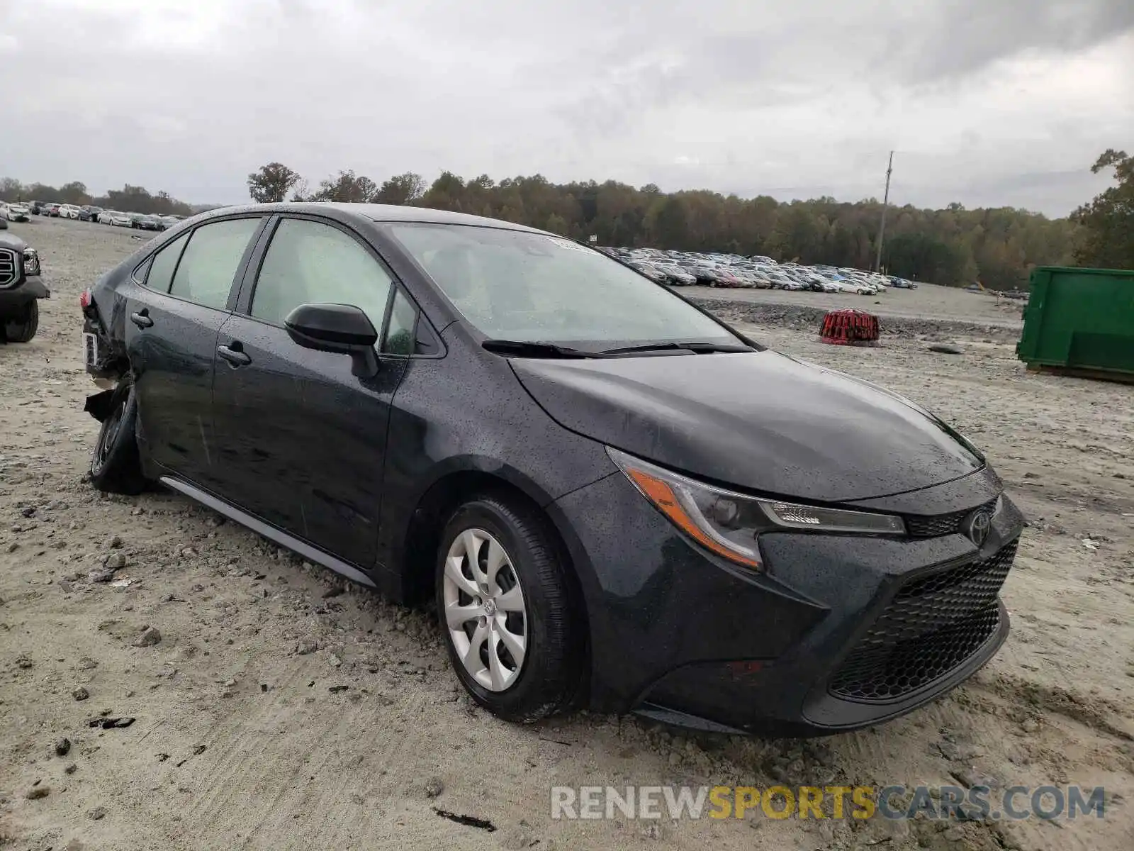
<instances>
[{"instance_id":1,"label":"windshield of the black Toyota sedan","mask_svg":"<svg viewBox=\"0 0 1134 851\"><path fill-rule=\"evenodd\" d=\"M492 339L607 348L742 344L665 287L570 239L467 225L388 225L457 310Z\"/></svg>"}]
</instances>

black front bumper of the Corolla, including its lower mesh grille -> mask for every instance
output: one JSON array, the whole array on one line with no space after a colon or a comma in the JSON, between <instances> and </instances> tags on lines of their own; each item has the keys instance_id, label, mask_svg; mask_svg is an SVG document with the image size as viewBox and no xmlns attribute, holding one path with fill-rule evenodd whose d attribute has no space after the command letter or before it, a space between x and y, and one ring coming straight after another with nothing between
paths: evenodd
<instances>
[{"instance_id":1,"label":"black front bumper of the Corolla, including its lower mesh grille","mask_svg":"<svg viewBox=\"0 0 1134 851\"><path fill-rule=\"evenodd\" d=\"M954 511L984 504L996 481L966 478L946 488ZM971 676L1007 635L997 591L1023 529L1005 498L981 548L959 533L776 532L754 573L689 542L621 473L552 517L586 601L593 708L777 735L877 724Z\"/></svg>"}]
</instances>

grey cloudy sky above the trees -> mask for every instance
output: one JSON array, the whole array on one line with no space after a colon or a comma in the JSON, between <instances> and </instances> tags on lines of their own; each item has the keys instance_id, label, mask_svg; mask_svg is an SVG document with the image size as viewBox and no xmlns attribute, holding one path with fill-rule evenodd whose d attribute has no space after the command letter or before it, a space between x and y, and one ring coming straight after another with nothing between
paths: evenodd
<instances>
[{"instance_id":1,"label":"grey cloudy sky above the trees","mask_svg":"<svg viewBox=\"0 0 1134 851\"><path fill-rule=\"evenodd\" d=\"M0 175L245 200L542 172L1063 216L1134 150L1134 0L0 0Z\"/></svg>"}]
</instances>

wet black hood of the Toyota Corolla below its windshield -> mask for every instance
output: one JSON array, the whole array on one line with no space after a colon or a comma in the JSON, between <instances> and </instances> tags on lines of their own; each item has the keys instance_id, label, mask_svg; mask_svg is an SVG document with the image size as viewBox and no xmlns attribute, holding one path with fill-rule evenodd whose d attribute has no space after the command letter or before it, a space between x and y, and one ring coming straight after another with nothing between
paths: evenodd
<instances>
[{"instance_id":1,"label":"wet black hood of the Toyota Corolla below its windshield","mask_svg":"<svg viewBox=\"0 0 1134 851\"><path fill-rule=\"evenodd\" d=\"M869 499L984 465L964 438L902 396L771 351L511 365L562 427L769 495Z\"/></svg>"}]
</instances>

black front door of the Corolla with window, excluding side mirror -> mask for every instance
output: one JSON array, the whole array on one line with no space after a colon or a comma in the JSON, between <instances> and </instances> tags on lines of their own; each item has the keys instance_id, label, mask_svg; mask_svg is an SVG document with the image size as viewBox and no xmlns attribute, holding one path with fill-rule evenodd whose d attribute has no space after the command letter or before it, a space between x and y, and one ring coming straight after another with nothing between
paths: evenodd
<instances>
[{"instance_id":1,"label":"black front door of the Corolla with window, excluding side mirror","mask_svg":"<svg viewBox=\"0 0 1134 851\"><path fill-rule=\"evenodd\" d=\"M251 272L249 272L251 277ZM221 495L346 562L374 564L390 402L405 361L352 374L346 355L295 344L299 304L361 307L383 330L395 285L359 238L327 221L284 218L245 312L221 327L213 387Z\"/></svg>"}]
</instances>

